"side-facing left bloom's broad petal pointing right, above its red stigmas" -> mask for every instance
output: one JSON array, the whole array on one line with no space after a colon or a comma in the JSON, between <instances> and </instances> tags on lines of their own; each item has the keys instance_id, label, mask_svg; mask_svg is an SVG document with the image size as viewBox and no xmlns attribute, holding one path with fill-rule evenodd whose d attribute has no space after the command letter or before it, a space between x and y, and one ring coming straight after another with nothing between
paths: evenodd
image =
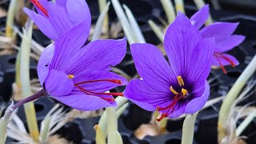
<instances>
[{"instance_id":1,"label":"side-facing left bloom's broad petal pointing right, above its red stigmas","mask_svg":"<svg viewBox=\"0 0 256 144\"><path fill-rule=\"evenodd\" d=\"M95 70L110 70L126 54L126 38L119 40L96 40L82 47L70 61L63 63L67 74L78 75Z\"/></svg>"}]
</instances>

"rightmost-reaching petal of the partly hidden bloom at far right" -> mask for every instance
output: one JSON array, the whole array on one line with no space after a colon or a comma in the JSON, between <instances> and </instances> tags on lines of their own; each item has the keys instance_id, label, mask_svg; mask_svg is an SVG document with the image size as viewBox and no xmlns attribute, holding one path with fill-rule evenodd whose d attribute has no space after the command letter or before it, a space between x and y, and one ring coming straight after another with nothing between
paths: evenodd
<instances>
[{"instance_id":1,"label":"rightmost-reaching petal of the partly hidden bloom at far right","mask_svg":"<svg viewBox=\"0 0 256 144\"><path fill-rule=\"evenodd\" d=\"M229 51L233 49L234 46L238 46L245 38L246 37L242 35L230 35L226 38L215 39L216 46L214 51L219 53Z\"/></svg>"}]
</instances>

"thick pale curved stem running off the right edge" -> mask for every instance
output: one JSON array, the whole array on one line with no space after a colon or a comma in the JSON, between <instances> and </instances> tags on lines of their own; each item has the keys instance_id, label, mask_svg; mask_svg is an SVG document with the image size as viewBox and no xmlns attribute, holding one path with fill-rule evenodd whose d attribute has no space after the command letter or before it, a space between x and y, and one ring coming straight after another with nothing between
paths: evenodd
<instances>
[{"instance_id":1,"label":"thick pale curved stem running off the right edge","mask_svg":"<svg viewBox=\"0 0 256 144\"><path fill-rule=\"evenodd\" d=\"M239 76L238 80L234 83L228 94L226 94L226 98L224 99L221 110L218 116L218 141L221 142L222 138L226 136L226 122L228 122L228 118L230 115L230 107L234 103L235 99L240 94L242 88L246 85L246 82L256 71L256 55L250 62L250 64L246 67L246 69Z\"/></svg>"}]
</instances>

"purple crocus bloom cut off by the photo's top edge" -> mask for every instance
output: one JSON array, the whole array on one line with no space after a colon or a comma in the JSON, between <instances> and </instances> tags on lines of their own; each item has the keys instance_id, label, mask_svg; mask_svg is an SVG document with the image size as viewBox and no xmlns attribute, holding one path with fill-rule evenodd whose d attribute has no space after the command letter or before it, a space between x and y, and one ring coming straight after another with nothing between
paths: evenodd
<instances>
[{"instance_id":1,"label":"purple crocus bloom cut off by the photo's top edge","mask_svg":"<svg viewBox=\"0 0 256 144\"><path fill-rule=\"evenodd\" d=\"M86 40L90 32L90 10L85 0L30 0L36 7L38 14L24 8L24 12L34 21L42 33L54 41L64 34L66 30L85 21L83 31Z\"/></svg>"}]
</instances>

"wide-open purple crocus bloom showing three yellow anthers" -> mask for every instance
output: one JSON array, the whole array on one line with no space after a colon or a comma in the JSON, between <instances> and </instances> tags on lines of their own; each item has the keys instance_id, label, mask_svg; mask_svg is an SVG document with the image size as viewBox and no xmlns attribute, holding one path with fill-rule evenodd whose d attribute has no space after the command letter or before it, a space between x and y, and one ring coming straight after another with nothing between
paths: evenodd
<instances>
[{"instance_id":1,"label":"wide-open purple crocus bloom showing three yellow anthers","mask_svg":"<svg viewBox=\"0 0 256 144\"><path fill-rule=\"evenodd\" d=\"M209 97L206 78L214 53L214 38L202 38L197 27L178 13L164 39L169 62L151 44L133 44L131 53L142 79L128 83L124 96L162 118L176 118L200 110Z\"/></svg>"}]
</instances>

